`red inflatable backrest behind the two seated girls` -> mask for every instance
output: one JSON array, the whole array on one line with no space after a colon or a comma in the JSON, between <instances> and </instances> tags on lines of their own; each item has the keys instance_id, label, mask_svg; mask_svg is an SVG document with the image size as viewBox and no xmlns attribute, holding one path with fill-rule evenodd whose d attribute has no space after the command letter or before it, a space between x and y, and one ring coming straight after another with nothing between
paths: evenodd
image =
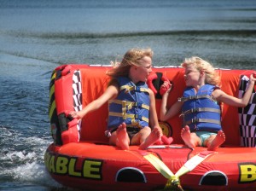
<instances>
[{"instance_id":1,"label":"red inflatable backrest behind the two seated girls","mask_svg":"<svg viewBox=\"0 0 256 191\"><path fill-rule=\"evenodd\" d=\"M79 111L82 107L87 106L91 101L102 96L102 93L108 87L110 78L108 78L106 72L109 68L110 67L96 67L88 65L68 65L66 67L61 67L62 76L55 80L55 91L57 91L55 92L55 100L57 107L56 113L58 117L61 113L66 115L64 122L61 122L62 128L59 130L61 131L61 141L63 142L64 140L64 144L68 142L78 142L79 140L108 143L108 138L104 134L108 124L108 103L105 103L98 110L88 113L86 118L82 120L81 124L77 124L76 121L68 119L68 113L73 110ZM60 68L55 70L59 71ZM153 70L160 74L160 76L164 75L172 81L172 91L170 92L170 96L167 101L167 107L171 107L172 104L177 101L177 98L183 95L183 90L185 88L183 68L155 67ZM239 96L241 75L249 76L249 74L252 73L252 71L241 70L218 70L218 72L221 75L221 89L230 96L236 97ZM160 111L160 104L161 99L157 96L157 113ZM51 110L54 111L54 109ZM241 145L241 120L239 119L238 108L223 104L222 126L226 135L225 145ZM55 121L52 121L54 123L51 123L51 125L55 124ZM182 120L179 118L178 114L174 118L167 120L165 123L161 122L160 126L163 128L166 136L173 137L173 143L183 143L183 140L180 137ZM80 130L80 137L77 137L76 130Z\"/></svg>"}]
</instances>

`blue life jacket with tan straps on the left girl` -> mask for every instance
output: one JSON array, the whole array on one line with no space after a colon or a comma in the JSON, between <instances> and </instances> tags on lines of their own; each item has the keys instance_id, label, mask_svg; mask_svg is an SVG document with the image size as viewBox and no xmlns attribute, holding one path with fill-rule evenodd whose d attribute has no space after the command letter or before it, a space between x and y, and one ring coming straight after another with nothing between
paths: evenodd
<instances>
[{"instance_id":1,"label":"blue life jacket with tan straps on the left girl","mask_svg":"<svg viewBox=\"0 0 256 191\"><path fill-rule=\"evenodd\" d=\"M125 122L127 127L148 126L150 98L148 85L134 84L130 78L119 77L119 95L108 101L108 129Z\"/></svg>"}]
</instances>

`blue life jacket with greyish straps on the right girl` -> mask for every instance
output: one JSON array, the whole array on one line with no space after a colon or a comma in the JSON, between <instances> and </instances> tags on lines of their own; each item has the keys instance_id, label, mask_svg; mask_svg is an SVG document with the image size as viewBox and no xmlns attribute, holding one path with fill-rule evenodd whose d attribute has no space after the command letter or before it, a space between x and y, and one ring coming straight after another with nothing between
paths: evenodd
<instances>
[{"instance_id":1,"label":"blue life jacket with greyish straps on the right girl","mask_svg":"<svg viewBox=\"0 0 256 191\"><path fill-rule=\"evenodd\" d=\"M190 131L221 130L221 110L216 101L212 100L212 91L217 87L205 84L198 92L193 87L186 88L183 97L179 101L183 101L183 126L189 125Z\"/></svg>"}]
</instances>

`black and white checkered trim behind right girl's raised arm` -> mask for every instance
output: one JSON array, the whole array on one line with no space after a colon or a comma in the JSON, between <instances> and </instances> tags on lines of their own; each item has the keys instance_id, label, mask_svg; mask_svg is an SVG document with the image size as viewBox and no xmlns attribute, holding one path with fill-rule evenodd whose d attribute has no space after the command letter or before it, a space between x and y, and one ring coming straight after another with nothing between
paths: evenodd
<instances>
[{"instance_id":1,"label":"black and white checkered trim behind right girl's raised arm","mask_svg":"<svg viewBox=\"0 0 256 191\"><path fill-rule=\"evenodd\" d=\"M239 98L241 98L247 90L249 78L242 75L239 86ZM251 99L247 107L239 107L239 123L241 146L247 148L256 147L256 94L253 90Z\"/></svg>"}]
</instances>

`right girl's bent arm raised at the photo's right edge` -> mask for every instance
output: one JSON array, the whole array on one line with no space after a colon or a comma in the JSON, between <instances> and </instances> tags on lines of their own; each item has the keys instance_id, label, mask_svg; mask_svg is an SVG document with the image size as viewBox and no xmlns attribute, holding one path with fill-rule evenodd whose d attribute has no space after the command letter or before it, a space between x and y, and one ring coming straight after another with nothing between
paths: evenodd
<instances>
[{"instance_id":1,"label":"right girl's bent arm raised at the photo's right edge","mask_svg":"<svg viewBox=\"0 0 256 191\"><path fill-rule=\"evenodd\" d=\"M253 74L252 74L250 76L250 81L247 87L247 91L245 92L242 98L237 98L234 96L227 95L222 90L214 90L212 92L212 96L214 96L217 101L224 102L233 107L246 107L248 102L250 101L255 81L256 81L256 78L253 78Z\"/></svg>"}]
</instances>

